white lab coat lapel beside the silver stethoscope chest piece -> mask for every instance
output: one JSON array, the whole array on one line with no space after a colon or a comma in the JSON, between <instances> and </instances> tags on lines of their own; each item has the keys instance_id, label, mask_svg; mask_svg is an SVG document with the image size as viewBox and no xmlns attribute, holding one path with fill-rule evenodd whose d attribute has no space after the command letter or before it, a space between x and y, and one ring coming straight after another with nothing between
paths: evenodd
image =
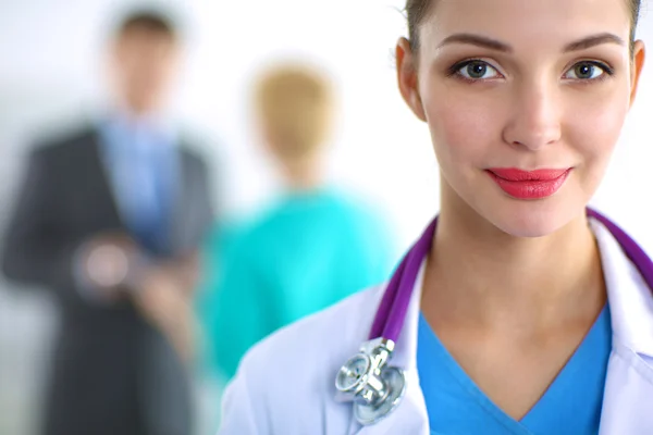
<instances>
[{"instance_id":1,"label":"white lab coat lapel beside the silver stethoscope chest piece","mask_svg":"<svg viewBox=\"0 0 653 435\"><path fill-rule=\"evenodd\" d=\"M423 281L426 261L422 262L412 295L410 304L406 312L404 327L399 334L395 352L390 361L390 365L404 369L406 376L406 391L398 407L377 424L362 426L352 412L352 422L348 434L356 435L379 435L379 434L411 434L428 435L429 418L427 406L419 386L419 375L417 373L417 328L419 324L419 306L421 300L421 288Z\"/></svg>"}]
</instances>

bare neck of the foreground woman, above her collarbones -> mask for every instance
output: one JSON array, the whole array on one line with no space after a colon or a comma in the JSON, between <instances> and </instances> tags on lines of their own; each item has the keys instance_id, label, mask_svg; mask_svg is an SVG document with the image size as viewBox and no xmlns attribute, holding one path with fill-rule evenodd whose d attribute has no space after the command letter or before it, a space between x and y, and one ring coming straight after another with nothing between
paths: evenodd
<instances>
[{"instance_id":1,"label":"bare neck of the foreground woman, above her collarbones","mask_svg":"<svg viewBox=\"0 0 653 435\"><path fill-rule=\"evenodd\" d=\"M428 318L531 334L592 321L605 304L599 249L584 214L554 234L525 238L468 207L452 209L443 204L427 264Z\"/></svg>"}]
</instances>

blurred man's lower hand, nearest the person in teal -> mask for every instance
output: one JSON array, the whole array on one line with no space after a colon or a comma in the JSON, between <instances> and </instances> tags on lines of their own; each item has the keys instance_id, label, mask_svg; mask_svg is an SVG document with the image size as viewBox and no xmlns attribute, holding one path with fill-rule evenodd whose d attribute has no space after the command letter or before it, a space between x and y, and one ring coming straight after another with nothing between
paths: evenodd
<instances>
[{"instance_id":1,"label":"blurred man's lower hand, nearest the person in teal","mask_svg":"<svg viewBox=\"0 0 653 435\"><path fill-rule=\"evenodd\" d=\"M194 352L195 319L189 294L176 270L152 265L141 271L133 299L144 318L188 361Z\"/></svg>"}]
</instances>

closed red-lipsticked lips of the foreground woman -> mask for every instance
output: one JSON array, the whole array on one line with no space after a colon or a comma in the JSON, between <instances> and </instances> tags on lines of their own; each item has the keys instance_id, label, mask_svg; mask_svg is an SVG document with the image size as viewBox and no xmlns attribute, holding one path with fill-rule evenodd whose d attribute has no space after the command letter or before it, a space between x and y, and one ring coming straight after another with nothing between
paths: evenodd
<instances>
[{"instance_id":1,"label":"closed red-lipsticked lips of the foreground woman","mask_svg":"<svg viewBox=\"0 0 653 435\"><path fill-rule=\"evenodd\" d=\"M516 199L546 198L558 191L571 169L522 171L515 167L486 170L494 182Z\"/></svg>"}]
</instances>

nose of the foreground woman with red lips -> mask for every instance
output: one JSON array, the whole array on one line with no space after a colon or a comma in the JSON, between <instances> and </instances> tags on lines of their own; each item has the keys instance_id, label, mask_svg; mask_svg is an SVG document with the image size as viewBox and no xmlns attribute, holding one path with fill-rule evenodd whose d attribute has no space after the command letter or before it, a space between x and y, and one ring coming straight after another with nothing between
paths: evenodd
<instances>
[{"instance_id":1,"label":"nose of the foreground woman with red lips","mask_svg":"<svg viewBox=\"0 0 653 435\"><path fill-rule=\"evenodd\" d=\"M553 85L542 80L516 87L504 141L532 151L555 144L562 134L560 113L558 90Z\"/></svg>"}]
</instances>

